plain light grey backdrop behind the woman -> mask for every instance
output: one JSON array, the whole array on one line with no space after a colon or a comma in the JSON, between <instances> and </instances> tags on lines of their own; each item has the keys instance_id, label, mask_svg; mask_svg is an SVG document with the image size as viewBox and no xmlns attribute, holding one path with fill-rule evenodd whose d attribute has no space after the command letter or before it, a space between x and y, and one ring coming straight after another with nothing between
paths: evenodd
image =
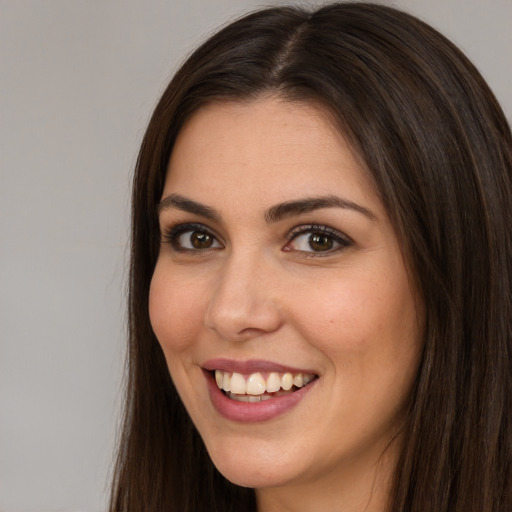
<instances>
[{"instance_id":1,"label":"plain light grey backdrop behind the woman","mask_svg":"<svg viewBox=\"0 0 512 512\"><path fill-rule=\"evenodd\" d=\"M276 3L0 0L1 512L105 510L138 145L184 56ZM511 118L512 0L387 3L454 40Z\"/></svg>"}]
</instances>

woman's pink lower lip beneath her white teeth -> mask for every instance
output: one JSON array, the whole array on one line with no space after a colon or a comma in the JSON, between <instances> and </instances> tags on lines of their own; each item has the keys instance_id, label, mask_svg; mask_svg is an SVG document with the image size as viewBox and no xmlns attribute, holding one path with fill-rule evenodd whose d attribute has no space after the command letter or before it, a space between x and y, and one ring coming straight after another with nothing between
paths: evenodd
<instances>
[{"instance_id":1,"label":"woman's pink lower lip beneath her white teeth","mask_svg":"<svg viewBox=\"0 0 512 512\"><path fill-rule=\"evenodd\" d=\"M256 423L268 421L294 408L316 384L317 379L307 386L288 395L281 395L262 402L239 402L228 398L217 386L210 372L204 371L210 399L217 411L231 421Z\"/></svg>"}]
</instances>

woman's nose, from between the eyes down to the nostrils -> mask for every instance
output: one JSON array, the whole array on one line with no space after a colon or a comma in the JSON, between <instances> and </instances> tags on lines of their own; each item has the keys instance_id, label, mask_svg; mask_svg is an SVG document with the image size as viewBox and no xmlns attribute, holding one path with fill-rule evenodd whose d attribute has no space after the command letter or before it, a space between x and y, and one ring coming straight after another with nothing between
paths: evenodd
<instances>
[{"instance_id":1,"label":"woman's nose, from between the eyes down to the nostrils","mask_svg":"<svg viewBox=\"0 0 512 512\"><path fill-rule=\"evenodd\" d=\"M230 341L244 341L279 329L272 263L261 258L232 257L219 273L205 315L207 328Z\"/></svg>"}]
</instances>

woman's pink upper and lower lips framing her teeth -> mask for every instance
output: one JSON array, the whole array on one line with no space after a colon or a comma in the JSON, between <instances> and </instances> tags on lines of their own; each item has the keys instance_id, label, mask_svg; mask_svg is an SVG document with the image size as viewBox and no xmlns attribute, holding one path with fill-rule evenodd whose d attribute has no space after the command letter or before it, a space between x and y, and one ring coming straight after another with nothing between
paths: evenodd
<instances>
[{"instance_id":1,"label":"woman's pink upper and lower lips framing her teeth","mask_svg":"<svg viewBox=\"0 0 512 512\"><path fill-rule=\"evenodd\" d=\"M213 366L211 363L215 363ZM220 364L219 364L220 363ZM262 365L262 363L265 363ZM228 361L212 360L203 365L208 392L215 409L226 419L243 423L256 423L268 421L298 405L306 394L314 387L318 379L313 380L307 386L294 391L293 393L264 400L262 402L247 403L232 400L219 389L215 378L211 372L213 369L222 369L225 371L236 371L242 374L254 373L254 371L277 371L277 372L300 372L300 370L291 369L274 363L264 361ZM307 372L312 373L312 372Z\"/></svg>"}]
</instances>

